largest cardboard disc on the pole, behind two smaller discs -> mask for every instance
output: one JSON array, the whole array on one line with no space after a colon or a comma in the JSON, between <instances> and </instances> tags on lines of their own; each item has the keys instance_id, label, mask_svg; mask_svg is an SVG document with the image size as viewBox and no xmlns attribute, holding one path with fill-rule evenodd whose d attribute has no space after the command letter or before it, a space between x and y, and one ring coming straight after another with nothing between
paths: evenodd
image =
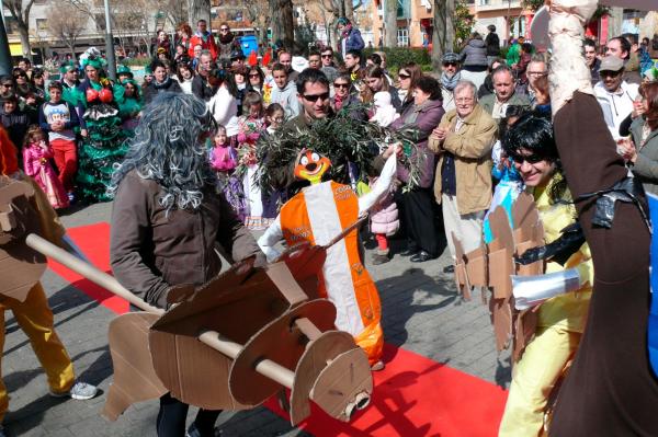
<instances>
[{"instance_id":1,"label":"largest cardboard disc on the pole, behind two smaller discs","mask_svg":"<svg viewBox=\"0 0 658 437\"><path fill-rule=\"evenodd\" d=\"M320 331L333 330L336 307L325 299L303 302L256 333L230 368L230 393L238 402L258 405L282 389L277 382L258 373L256 364L266 358L293 371L308 341L294 325L295 320L302 318Z\"/></svg>"}]
</instances>

